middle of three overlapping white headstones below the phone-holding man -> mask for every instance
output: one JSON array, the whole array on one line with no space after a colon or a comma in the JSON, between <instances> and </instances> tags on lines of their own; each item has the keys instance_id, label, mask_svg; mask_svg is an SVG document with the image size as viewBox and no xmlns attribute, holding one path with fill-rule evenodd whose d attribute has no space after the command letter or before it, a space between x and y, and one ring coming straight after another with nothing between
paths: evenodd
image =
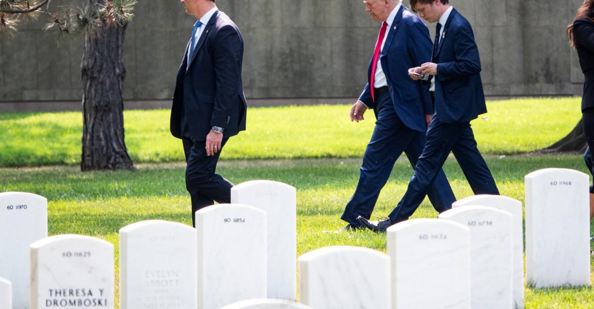
<instances>
[{"instance_id":1,"label":"middle of three overlapping white headstones below the phone-holding man","mask_svg":"<svg viewBox=\"0 0 594 309\"><path fill-rule=\"evenodd\" d=\"M513 218L486 206L461 206L440 213L470 228L470 307L513 308Z\"/></svg>"}]
</instances>

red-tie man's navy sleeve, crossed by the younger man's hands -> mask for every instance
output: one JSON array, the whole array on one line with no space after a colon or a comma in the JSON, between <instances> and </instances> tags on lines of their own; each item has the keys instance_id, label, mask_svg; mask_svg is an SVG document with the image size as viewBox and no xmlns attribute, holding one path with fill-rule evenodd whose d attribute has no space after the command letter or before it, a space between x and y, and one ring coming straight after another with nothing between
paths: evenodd
<instances>
[{"instance_id":1,"label":"red-tie man's navy sleeve, crossed by the younger man's hands","mask_svg":"<svg viewBox=\"0 0 594 309\"><path fill-rule=\"evenodd\" d=\"M431 62L431 54L433 53L433 42L429 35L429 29L422 21L415 21L410 24L409 28L409 45L408 52L412 55L413 65L421 67L426 62ZM421 102L423 102L423 112L426 115L433 114L433 103L431 102L431 93L422 81L417 81L421 89Z\"/></svg>"}]
</instances>

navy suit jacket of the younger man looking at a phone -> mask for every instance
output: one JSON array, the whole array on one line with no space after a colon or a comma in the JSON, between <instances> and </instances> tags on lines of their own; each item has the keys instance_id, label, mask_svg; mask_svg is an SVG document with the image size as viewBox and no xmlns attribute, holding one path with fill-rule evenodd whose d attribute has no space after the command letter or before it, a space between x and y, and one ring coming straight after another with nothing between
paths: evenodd
<instances>
[{"instance_id":1,"label":"navy suit jacket of the younger man looking at a phone","mask_svg":"<svg viewBox=\"0 0 594 309\"><path fill-rule=\"evenodd\" d=\"M469 122L486 113L481 59L470 23L452 9L435 59L435 113L441 122Z\"/></svg>"}]
</instances>

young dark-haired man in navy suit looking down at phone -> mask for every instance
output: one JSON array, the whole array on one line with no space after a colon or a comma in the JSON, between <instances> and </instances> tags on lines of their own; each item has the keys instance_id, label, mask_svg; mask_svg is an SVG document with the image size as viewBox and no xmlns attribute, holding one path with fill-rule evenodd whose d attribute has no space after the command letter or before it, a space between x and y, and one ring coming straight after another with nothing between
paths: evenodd
<instances>
[{"instance_id":1,"label":"young dark-haired man in navy suit looking down at phone","mask_svg":"<svg viewBox=\"0 0 594 309\"><path fill-rule=\"evenodd\" d=\"M448 0L410 0L410 7L430 23L438 21L432 61L408 71L413 80L429 78L435 115L415 175L400 203L387 219L370 221L359 217L363 225L376 232L385 232L390 225L407 220L415 212L450 151L475 194L499 194L470 128L470 121L486 112L479 74L481 60L472 27L450 7Z\"/></svg>"}]
</instances>

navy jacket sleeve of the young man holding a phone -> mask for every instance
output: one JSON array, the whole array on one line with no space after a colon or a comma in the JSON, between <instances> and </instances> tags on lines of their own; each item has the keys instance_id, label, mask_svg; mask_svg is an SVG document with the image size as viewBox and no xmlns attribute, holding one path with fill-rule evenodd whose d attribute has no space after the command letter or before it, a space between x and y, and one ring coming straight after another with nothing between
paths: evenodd
<instances>
[{"instance_id":1,"label":"navy jacket sleeve of the young man holding a phone","mask_svg":"<svg viewBox=\"0 0 594 309\"><path fill-rule=\"evenodd\" d=\"M437 64L437 78L445 81L479 74L481 72L481 58L470 24L462 23L454 29L450 27L445 35L454 36L455 60Z\"/></svg>"}]
</instances>

